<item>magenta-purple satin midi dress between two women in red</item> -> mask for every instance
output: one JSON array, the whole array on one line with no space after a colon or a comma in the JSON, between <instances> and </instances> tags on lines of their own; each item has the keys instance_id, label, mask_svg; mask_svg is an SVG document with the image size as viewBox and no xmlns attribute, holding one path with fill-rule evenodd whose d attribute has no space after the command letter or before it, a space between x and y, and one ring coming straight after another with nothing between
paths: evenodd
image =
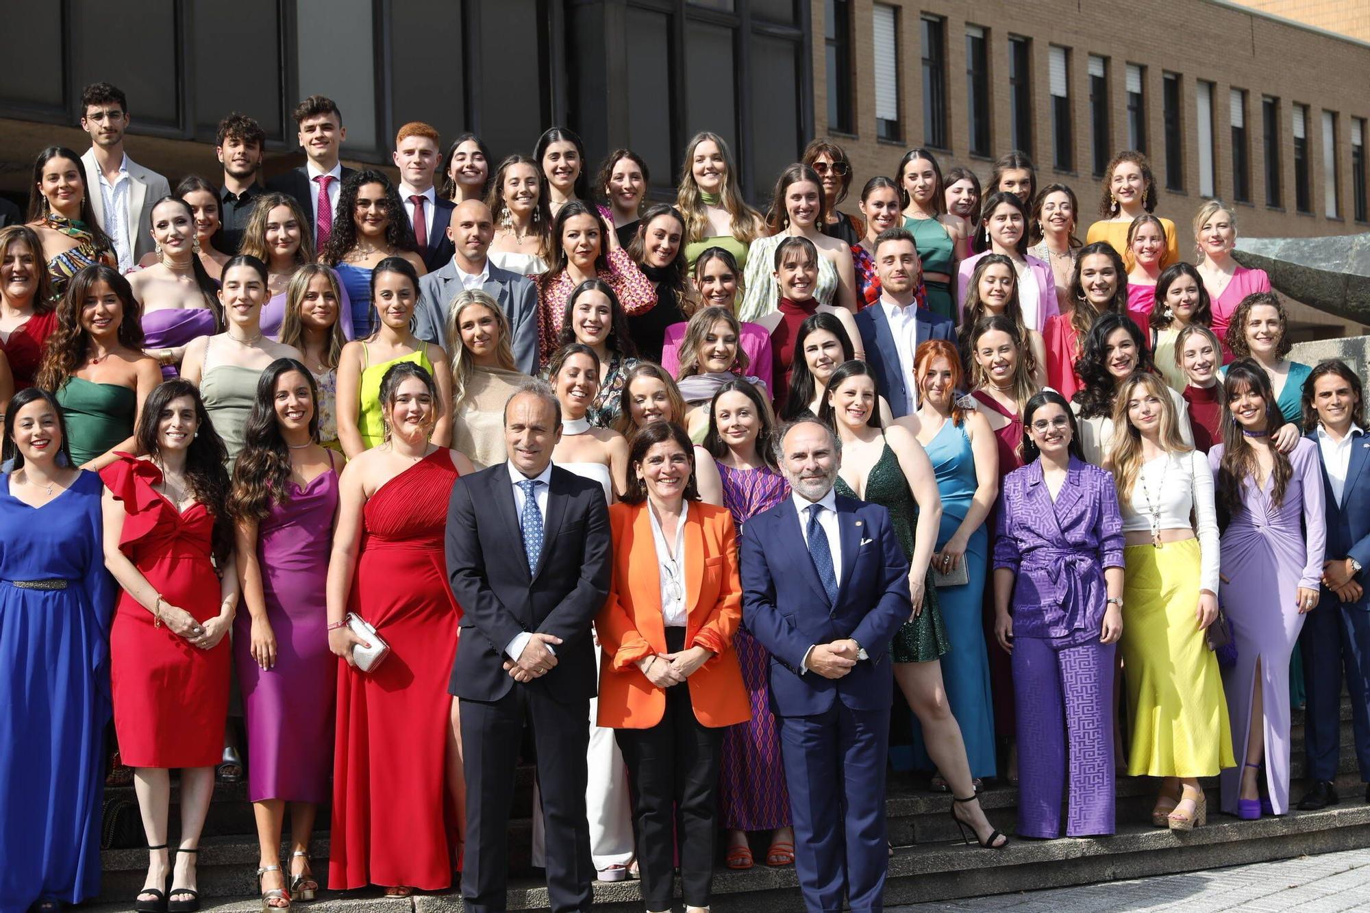
<instances>
[{"instance_id":1,"label":"magenta-purple satin midi dress between two women in red","mask_svg":"<svg viewBox=\"0 0 1370 913\"><path fill-rule=\"evenodd\" d=\"M252 618L233 622L233 657L248 729L248 799L323 802L333 770L333 692L323 583L329 569L338 476L329 469L271 504L258 526L258 561L275 633L271 669L252 661Z\"/></svg>"}]
</instances>

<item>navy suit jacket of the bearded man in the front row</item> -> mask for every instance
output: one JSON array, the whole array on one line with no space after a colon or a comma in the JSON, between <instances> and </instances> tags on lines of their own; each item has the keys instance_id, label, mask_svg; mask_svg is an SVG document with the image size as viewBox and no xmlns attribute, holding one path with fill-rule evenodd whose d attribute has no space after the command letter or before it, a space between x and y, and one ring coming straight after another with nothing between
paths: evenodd
<instances>
[{"instance_id":1,"label":"navy suit jacket of the bearded man in the front row","mask_svg":"<svg viewBox=\"0 0 1370 913\"><path fill-rule=\"evenodd\" d=\"M888 710L893 694L889 642L912 611L908 559L889 511L837 498L843 569L836 605L818 579L799 524L795 500L786 498L748 520L738 546L743 620L770 651L771 709L807 717L841 699L852 710ZM847 637L855 639L869 659L841 679L800 674L810 647Z\"/></svg>"}]
</instances>

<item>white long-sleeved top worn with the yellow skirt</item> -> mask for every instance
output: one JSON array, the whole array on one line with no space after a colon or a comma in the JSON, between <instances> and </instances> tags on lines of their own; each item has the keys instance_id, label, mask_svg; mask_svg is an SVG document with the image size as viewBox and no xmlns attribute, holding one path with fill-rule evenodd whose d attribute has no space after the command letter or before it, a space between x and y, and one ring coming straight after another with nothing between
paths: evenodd
<instances>
[{"instance_id":1,"label":"white long-sleeved top worn with the yellow skirt","mask_svg":"<svg viewBox=\"0 0 1370 913\"><path fill-rule=\"evenodd\" d=\"M1160 509L1160 529L1189 529L1189 510L1193 507L1195 532L1199 533L1199 587L1218 592L1218 514L1212 503L1208 458L1192 450L1143 463L1132 489L1132 506L1121 506L1123 532L1149 533L1151 506Z\"/></svg>"}]
</instances>

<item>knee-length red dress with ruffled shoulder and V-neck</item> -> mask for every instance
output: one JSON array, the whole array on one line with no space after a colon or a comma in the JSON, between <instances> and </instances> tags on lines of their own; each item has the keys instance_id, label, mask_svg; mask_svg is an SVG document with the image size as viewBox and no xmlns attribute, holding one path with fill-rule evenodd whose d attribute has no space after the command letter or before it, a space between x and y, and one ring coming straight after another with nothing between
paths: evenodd
<instances>
[{"instance_id":1,"label":"knee-length red dress with ruffled shoulder and V-neck","mask_svg":"<svg viewBox=\"0 0 1370 913\"><path fill-rule=\"evenodd\" d=\"M119 551L171 606L204 622L219 614L219 577L210 561L214 514L195 503L177 511L152 488L162 470L121 454L100 478L123 502ZM121 594L110 631L114 729L130 768L208 768L223 757L232 648L192 647L155 625L152 613Z\"/></svg>"}]
</instances>

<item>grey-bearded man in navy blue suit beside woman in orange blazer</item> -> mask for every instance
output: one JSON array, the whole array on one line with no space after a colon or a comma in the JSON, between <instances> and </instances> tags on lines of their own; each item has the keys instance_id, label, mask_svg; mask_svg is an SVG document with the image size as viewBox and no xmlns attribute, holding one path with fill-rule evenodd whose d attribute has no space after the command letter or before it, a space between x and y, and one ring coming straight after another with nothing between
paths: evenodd
<instances>
[{"instance_id":1,"label":"grey-bearded man in navy blue suit beside woman in orange blazer","mask_svg":"<svg viewBox=\"0 0 1370 913\"><path fill-rule=\"evenodd\" d=\"M884 909L889 642L908 620L908 561L889 513L837 498L841 441L786 425L777 458L793 495L747 521L743 617L771 654L771 709L810 910Z\"/></svg>"}]
</instances>

